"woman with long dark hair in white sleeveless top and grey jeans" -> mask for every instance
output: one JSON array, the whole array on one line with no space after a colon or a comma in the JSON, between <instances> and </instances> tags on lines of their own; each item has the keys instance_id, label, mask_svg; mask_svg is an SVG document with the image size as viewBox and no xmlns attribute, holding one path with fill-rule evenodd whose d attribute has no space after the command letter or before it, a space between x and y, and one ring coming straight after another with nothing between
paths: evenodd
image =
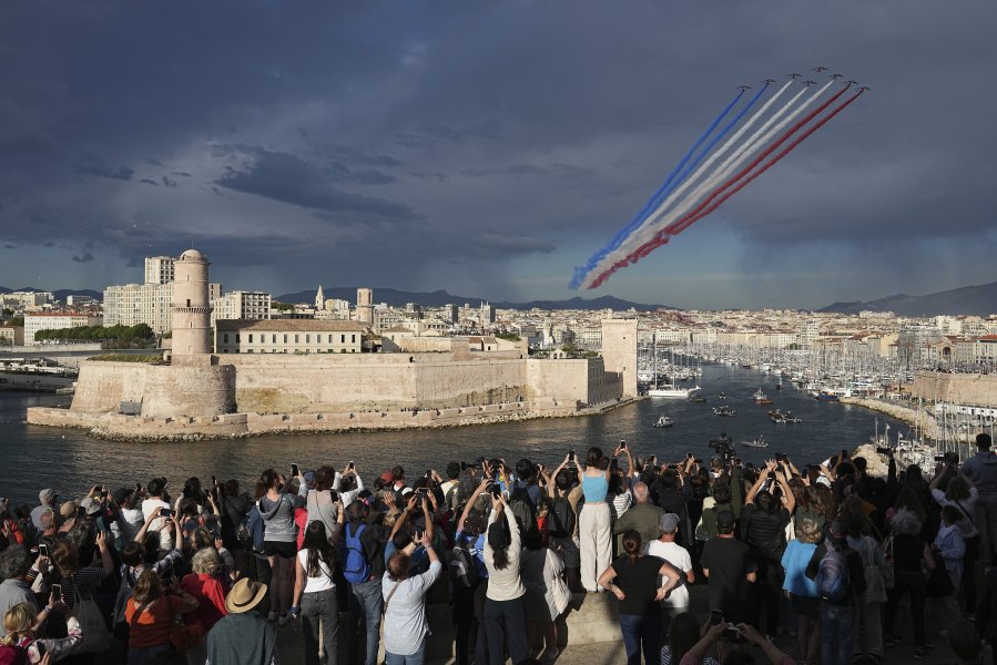
<instances>
[{"instance_id":1,"label":"woman with long dark hair in white sleeveless top and grey jeans","mask_svg":"<svg viewBox=\"0 0 997 665\"><path fill-rule=\"evenodd\" d=\"M339 511L343 520L343 511ZM325 524L318 520L308 524L305 541L295 561L294 604L291 615L302 620L305 637L305 663L317 665L323 662L318 647L318 627L322 625L323 646L326 663L335 663L339 634L339 607L336 602L336 567L333 545L325 532Z\"/></svg>"}]
</instances>

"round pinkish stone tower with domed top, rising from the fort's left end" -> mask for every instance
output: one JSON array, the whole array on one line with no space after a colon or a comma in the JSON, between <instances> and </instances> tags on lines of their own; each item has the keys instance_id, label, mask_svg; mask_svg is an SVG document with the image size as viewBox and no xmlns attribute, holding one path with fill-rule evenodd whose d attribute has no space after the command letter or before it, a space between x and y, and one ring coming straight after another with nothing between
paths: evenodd
<instances>
[{"instance_id":1,"label":"round pinkish stone tower with domed top, rising from the fort's left end","mask_svg":"<svg viewBox=\"0 0 997 665\"><path fill-rule=\"evenodd\" d=\"M211 354L207 258L187 249L174 263L173 356Z\"/></svg>"}]
</instances>

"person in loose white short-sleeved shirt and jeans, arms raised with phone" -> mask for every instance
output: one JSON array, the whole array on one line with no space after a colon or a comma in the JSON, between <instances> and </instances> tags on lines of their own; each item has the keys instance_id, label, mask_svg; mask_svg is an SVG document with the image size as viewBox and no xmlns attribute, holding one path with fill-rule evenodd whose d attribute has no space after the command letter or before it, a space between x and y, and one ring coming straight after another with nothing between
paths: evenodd
<instances>
[{"instance_id":1,"label":"person in loose white short-sleeved shirt and jeans, arms raised with phone","mask_svg":"<svg viewBox=\"0 0 997 665\"><path fill-rule=\"evenodd\" d=\"M426 593L439 579L442 564L433 549L433 540L423 532L423 546L429 555L429 570L409 576L411 557L395 552L381 579L384 596L384 649L386 665L423 665L426 659Z\"/></svg>"}]
</instances>

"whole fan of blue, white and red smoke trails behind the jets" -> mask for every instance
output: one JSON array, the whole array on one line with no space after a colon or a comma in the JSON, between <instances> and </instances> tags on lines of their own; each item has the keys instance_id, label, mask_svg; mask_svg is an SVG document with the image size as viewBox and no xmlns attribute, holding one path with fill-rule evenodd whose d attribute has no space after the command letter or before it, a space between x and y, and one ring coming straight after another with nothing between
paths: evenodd
<instances>
[{"instance_id":1,"label":"whole fan of blue, white and red smoke trails behind the jets","mask_svg":"<svg viewBox=\"0 0 997 665\"><path fill-rule=\"evenodd\" d=\"M761 106L761 109L755 111L721 147L710 154L714 146L737 125L754 103L759 101L767 89L769 83L770 81L766 81L765 85L749 101L749 103L741 109L741 111L728 122L712 140L710 140L709 144L703 147L699 154L693 157L692 155L696 153L698 146L702 145L723 121L723 117L733 109L743 94L743 91L721 112L720 115L718 115L708 131L703 133L695 145L693 145L693 147L685 154L680 164L671 174L669 174L664 184L659 187L654 196L651 197L630 224L618 233L606 247L597 252L584 266L576 268L574 276L571 280L572 288L597 288L617 270L637 263L640 258L643 258L655 248L667 244L670 236L678 235L696 221L715 211L736 192L740 192L750 182L775 165L806 137L824 126L832 117L841 113L865 90L867 90L865 88L861 89L858 93L852 95L844 103L833 109L827 115L807 127L814 119L850 89L850 82L845 84L842 90L833 94L827 101L823 102L814 111L807 113L806 116L783 132L786 125L800 116L804 110L831 88L834 83L834 79L817 89L814 94L804 99L803 102L800 102L806 91L806 88L804 88L767 117L757 130L746 139L742 140L742 136L760 122L769 112L770 108L774 105L776 100L789 90L793 83L791 80L780 88ZM812 82L808 83L812 84ZM804 130L804 127L806 129ZM780 151L775 157L762 164L766 157L790 141L793 135L801 130L803 130L803 134L793 140L787 147ZM772 139L776 136L776 134L780 134L780 132L783 133L772 141ZM772 141L771 144L769 144L770 141ZM766 144L767 147L765 147ZM757 156L754 156L755 153L763 147L764 151ZM730 152L730 154L720 163L720 165L714 166L714 164L722 156L728 154L728 152ZM706 158L708 154L710 155L709 158ZM754 158L746 166L740 168L733 176L730 176L731 172L737 170L751 157ZM759 167L760 164L762 164L761 167ZM689 191L690 188L691 192Z\"/></svg>"}]
</instances>

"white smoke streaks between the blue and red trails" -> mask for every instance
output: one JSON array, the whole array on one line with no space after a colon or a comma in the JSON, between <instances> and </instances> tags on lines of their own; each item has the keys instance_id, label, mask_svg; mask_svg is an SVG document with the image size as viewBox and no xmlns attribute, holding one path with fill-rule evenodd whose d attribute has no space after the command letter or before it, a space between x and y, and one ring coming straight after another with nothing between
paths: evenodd
<instances>
[{"instance_id":1,"label":"white smoke streaks between the blue and red trails","mask_svg":"<svg viewBox=\"0 0 997 665\"><path fill-rule=\"evenodd\" d=\"M792 81L791 81L792 83ZM756 142L755 137L765 131L765 127L771 125L773 121L775 121L782 113L784 113L798 98L805 92L807 89L804 88L802 91L796 93L780 111L777 111L772 119L770 119L766 123L759 129L747 141L744 142L737 151L735 151L730 157L724 160L723 164L716 170L714 175L708 177L700 186L698 186L693 193L688 196L684 201L681 202L679 206L675 207L670 213L665 213L663 211L664 205L659 206L651 215L648 216L648 219L644 222L641 227L630 235L630 237L624 241L620 247L616 250L608 254L586 276L586 279L582 284L582 288L588 288L591 286L596 279L599 278L603 272L609 269L614 263L621 260L629 256L634 249L642 246L644 243L650 241L657 235L661 228L671 224L673 221L679 219L686 212L693 209L699 203L700 198L702 198L705 194L711 192L714 187L716 187L724 177L726 177L735 168L739 168L749 157L751 157L754 153L756 153L762 146L767 144L773 136L782 132L793 120L795 120L807 106L810 106L817 98L820 98L831 85L834 84L834 80L832 79L826 84L824 84L821 89L818 89L814 94L807 98L800 106L797 106L790 115L783 119L776 126L772 127L767 133L765 133L761 139ZM785 86L783 88L785 90ZM782 91L780 91L782 92ZM774 96L773 96L774 99ZM770 100L772 101L772 100ZM763 108L764 110L764 108ZM665 202L667 204L668 202Z\"/></svg>"}]
</instances>

